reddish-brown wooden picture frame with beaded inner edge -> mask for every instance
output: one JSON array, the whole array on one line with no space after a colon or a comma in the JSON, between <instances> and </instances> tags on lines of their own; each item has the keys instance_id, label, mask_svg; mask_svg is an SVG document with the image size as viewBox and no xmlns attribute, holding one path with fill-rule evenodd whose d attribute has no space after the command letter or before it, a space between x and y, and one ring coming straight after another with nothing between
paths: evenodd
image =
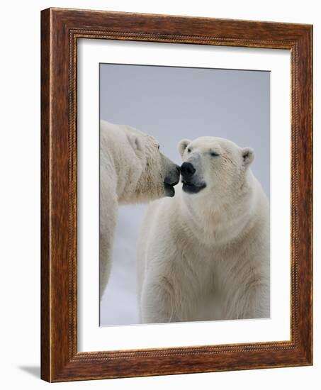
<instances>
[{"instance_id":1,"label":"reddish-brown wooden picture frame with beaded inner edge","mask_svg":"<svg viewBox=\"0 0 321 390\"><path fill-rule=\"evenodd\" d=\"M41 377L312 364L312 26L69 9L41 18ZM78 38L291 50L291 341L77 352Z\"/></svg>"}]
</instances>

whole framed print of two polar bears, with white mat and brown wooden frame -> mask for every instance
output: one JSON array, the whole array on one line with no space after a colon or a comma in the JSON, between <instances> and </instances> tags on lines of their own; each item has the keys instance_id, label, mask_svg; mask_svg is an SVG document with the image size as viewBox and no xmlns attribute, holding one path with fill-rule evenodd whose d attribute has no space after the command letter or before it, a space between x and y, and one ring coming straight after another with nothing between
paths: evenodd
<instances>
[{"instance_id":1,"label":"whole framed print of two polar bears, with white mat and brown wooden frame","mask_svg":"<svg viewBox=\"0 0 321 390\"><path fill-rule=\"evenodd\" d=\"M41 29L42 379L312 364L312 26Z\"/></svg>"}]
</instances>

